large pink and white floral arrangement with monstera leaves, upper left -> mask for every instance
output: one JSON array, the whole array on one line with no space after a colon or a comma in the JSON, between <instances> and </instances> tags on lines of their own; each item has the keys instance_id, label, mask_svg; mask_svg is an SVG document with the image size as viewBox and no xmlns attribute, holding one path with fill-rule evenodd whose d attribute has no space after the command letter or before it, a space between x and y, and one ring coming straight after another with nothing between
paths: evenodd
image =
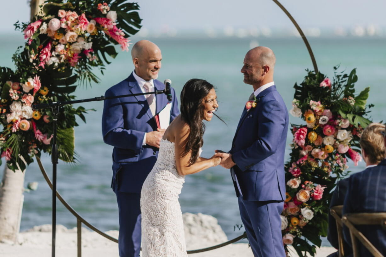
<instances>
[{"instance_id":1,"label":"large pink and white floral arrangement with monstera leaves, upper left","mask_svg":"<svg viewBox=\"0 0 386 257\"><path fill-rule=\"evenodd\" d=\"M73 100L73 84L98 83L92 69L103 74L106 55L117 56L113 44L129 50L127 38L141 28L138 9L125 0L49 0L30 23L15 24L25 46L12 57L15 71L0 67L0 147L9 168L24 170L34 155L51 153L52 110L31 106ZM59 159L76 160L75 115L85 121L86 111L67 105L59 112Z\"/></svg>"}]
</instances>

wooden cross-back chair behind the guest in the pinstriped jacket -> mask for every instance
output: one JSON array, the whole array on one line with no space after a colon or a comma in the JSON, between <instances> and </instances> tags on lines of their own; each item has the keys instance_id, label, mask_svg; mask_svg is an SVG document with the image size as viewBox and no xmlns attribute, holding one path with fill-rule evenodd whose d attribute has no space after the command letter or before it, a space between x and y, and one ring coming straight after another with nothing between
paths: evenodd
<instances>
[{"instance_id":1,"label":"wooden cross-back chair behind the guest in the pinstriped jacket","mask_svg":"<svg viewBox=\"0 0 386 257\"><path fill-rule=\"evenodd\" d=\"M355 227L355 225L379 225L386 230L386 213L349 213L342 221L350 230L352 252L354 257L360 257L359 242L366 247L374 257L384 257L378 249Z\"/></svg>"}]
</instances>

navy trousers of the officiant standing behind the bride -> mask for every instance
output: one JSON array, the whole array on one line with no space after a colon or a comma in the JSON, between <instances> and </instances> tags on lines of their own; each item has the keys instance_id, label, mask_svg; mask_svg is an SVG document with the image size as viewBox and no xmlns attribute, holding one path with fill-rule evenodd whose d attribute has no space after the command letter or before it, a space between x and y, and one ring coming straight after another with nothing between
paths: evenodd
<instances>
[{"instance_id":1,"label":"navy trousers of the officiant standing behind the bride","mask_svg":"<svg viewBox=\"0 0 386 257\"><path fill-rule=\"evenodd\" d=\"M117 192L120 257L139 257L141 249L141 194Z\"/></svg>"}]
</instances>

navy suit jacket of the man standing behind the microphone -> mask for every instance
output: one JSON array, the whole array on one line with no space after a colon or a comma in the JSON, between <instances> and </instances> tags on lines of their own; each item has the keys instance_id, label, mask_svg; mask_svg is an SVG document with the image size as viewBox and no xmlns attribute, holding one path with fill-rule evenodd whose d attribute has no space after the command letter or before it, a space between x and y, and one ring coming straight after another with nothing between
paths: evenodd
<instances>
[{"instance_id":1,"label":"navy suit jacket of the man standing behind the microphone","mask_svg":"<svg viewBox=\"0 0 386 257\"><path fill-rule=\"evenodd\" d=\"M154 79L154 90L164 90L164 84ZM105 96L142 93L133 74L109 88ZM165 94L156 95L156 113L171 104L170 122L179 114L176 93L171 88L173 100ZM142 184L156 163L158 148L142 146L146 132L157 129L145 96L128 96L105 100L102 116L103 141L112 145L114 192L141 193Z\"/></svg>"}]
</instances>

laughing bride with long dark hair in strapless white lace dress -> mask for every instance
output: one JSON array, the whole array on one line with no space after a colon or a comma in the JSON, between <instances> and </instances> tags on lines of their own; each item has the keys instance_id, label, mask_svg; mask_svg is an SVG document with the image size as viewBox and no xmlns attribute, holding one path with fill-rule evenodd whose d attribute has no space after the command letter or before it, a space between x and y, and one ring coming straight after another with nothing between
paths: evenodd
<instances>
[{"instance_id":1,"label":"laughing bride with long dark hair in strapless white lace dress","mask_svg":"<svg viewBox=\"0 0 386 257\"><path fill-rule=\"evenodd\" d=\"M181 114L166 129L156 164L141 191L142 257L187 257L181 207L185 175L220 164L200 157L203 120L210 121L217 105L213 85L190 79L181 92Z\"/></svg>"}]
</instances>

